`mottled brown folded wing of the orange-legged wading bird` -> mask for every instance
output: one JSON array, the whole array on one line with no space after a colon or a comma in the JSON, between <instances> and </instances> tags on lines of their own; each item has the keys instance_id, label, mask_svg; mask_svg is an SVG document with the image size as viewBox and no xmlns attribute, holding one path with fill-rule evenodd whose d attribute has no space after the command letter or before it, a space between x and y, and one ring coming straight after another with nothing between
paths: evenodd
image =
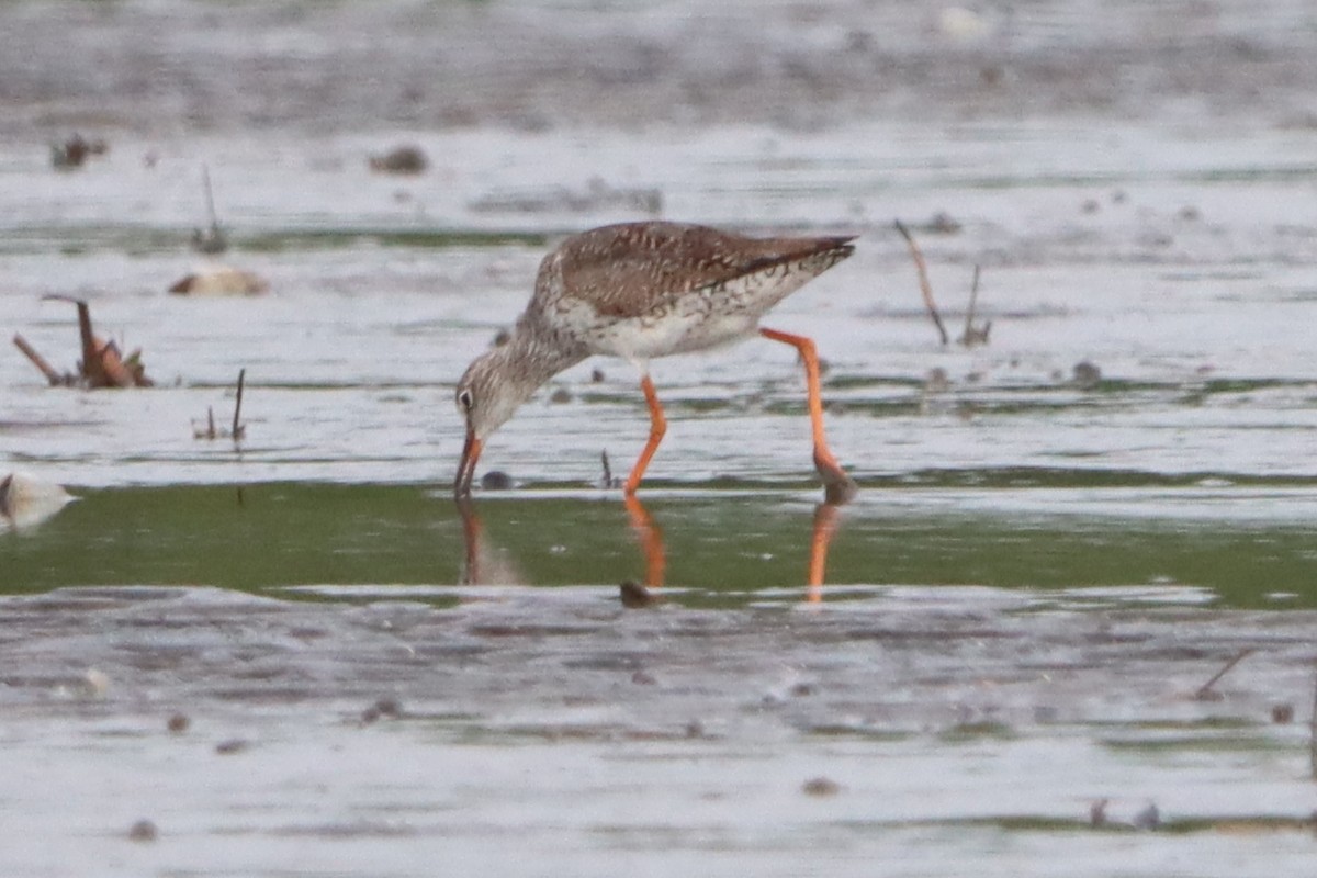
<instances>
[{"instance_id":1,"label":"mottled brown folded wing of the orange-legged wading bird","mask_svg":"<svg viewBox=\"0 0 1317 878\"><path fill-rule=\"evenodd\" d=\"M560 247L564 288L602 317L637 317L710 284L836 250L853 238L747 238L702 225L628 222Z\"/></svg>"}]
</instances>

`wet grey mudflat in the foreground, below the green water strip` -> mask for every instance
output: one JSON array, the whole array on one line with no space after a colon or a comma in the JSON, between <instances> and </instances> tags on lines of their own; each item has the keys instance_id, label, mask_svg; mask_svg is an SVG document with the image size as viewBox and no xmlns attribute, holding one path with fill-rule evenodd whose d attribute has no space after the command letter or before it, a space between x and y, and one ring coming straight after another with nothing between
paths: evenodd
<instances>
[{"instance_id":1,"label":"wet grey mudflat in the foreground, below the green water strip","mask_svg":"<svg viewBox=\"0 0 1317 878\"><path fill-rule=\"evenodd\" d=\"M981 857L1043 875L1063 857L1080 875L1299 875L1312 857L1292 719L1310 611L977 588L736 611L623 609L605 588L444 590L448 608L313 591L350 602L5 602L7 866L947 874ZM130 841L144 819L157 839Z\"/></svg>"}]
</instances>

